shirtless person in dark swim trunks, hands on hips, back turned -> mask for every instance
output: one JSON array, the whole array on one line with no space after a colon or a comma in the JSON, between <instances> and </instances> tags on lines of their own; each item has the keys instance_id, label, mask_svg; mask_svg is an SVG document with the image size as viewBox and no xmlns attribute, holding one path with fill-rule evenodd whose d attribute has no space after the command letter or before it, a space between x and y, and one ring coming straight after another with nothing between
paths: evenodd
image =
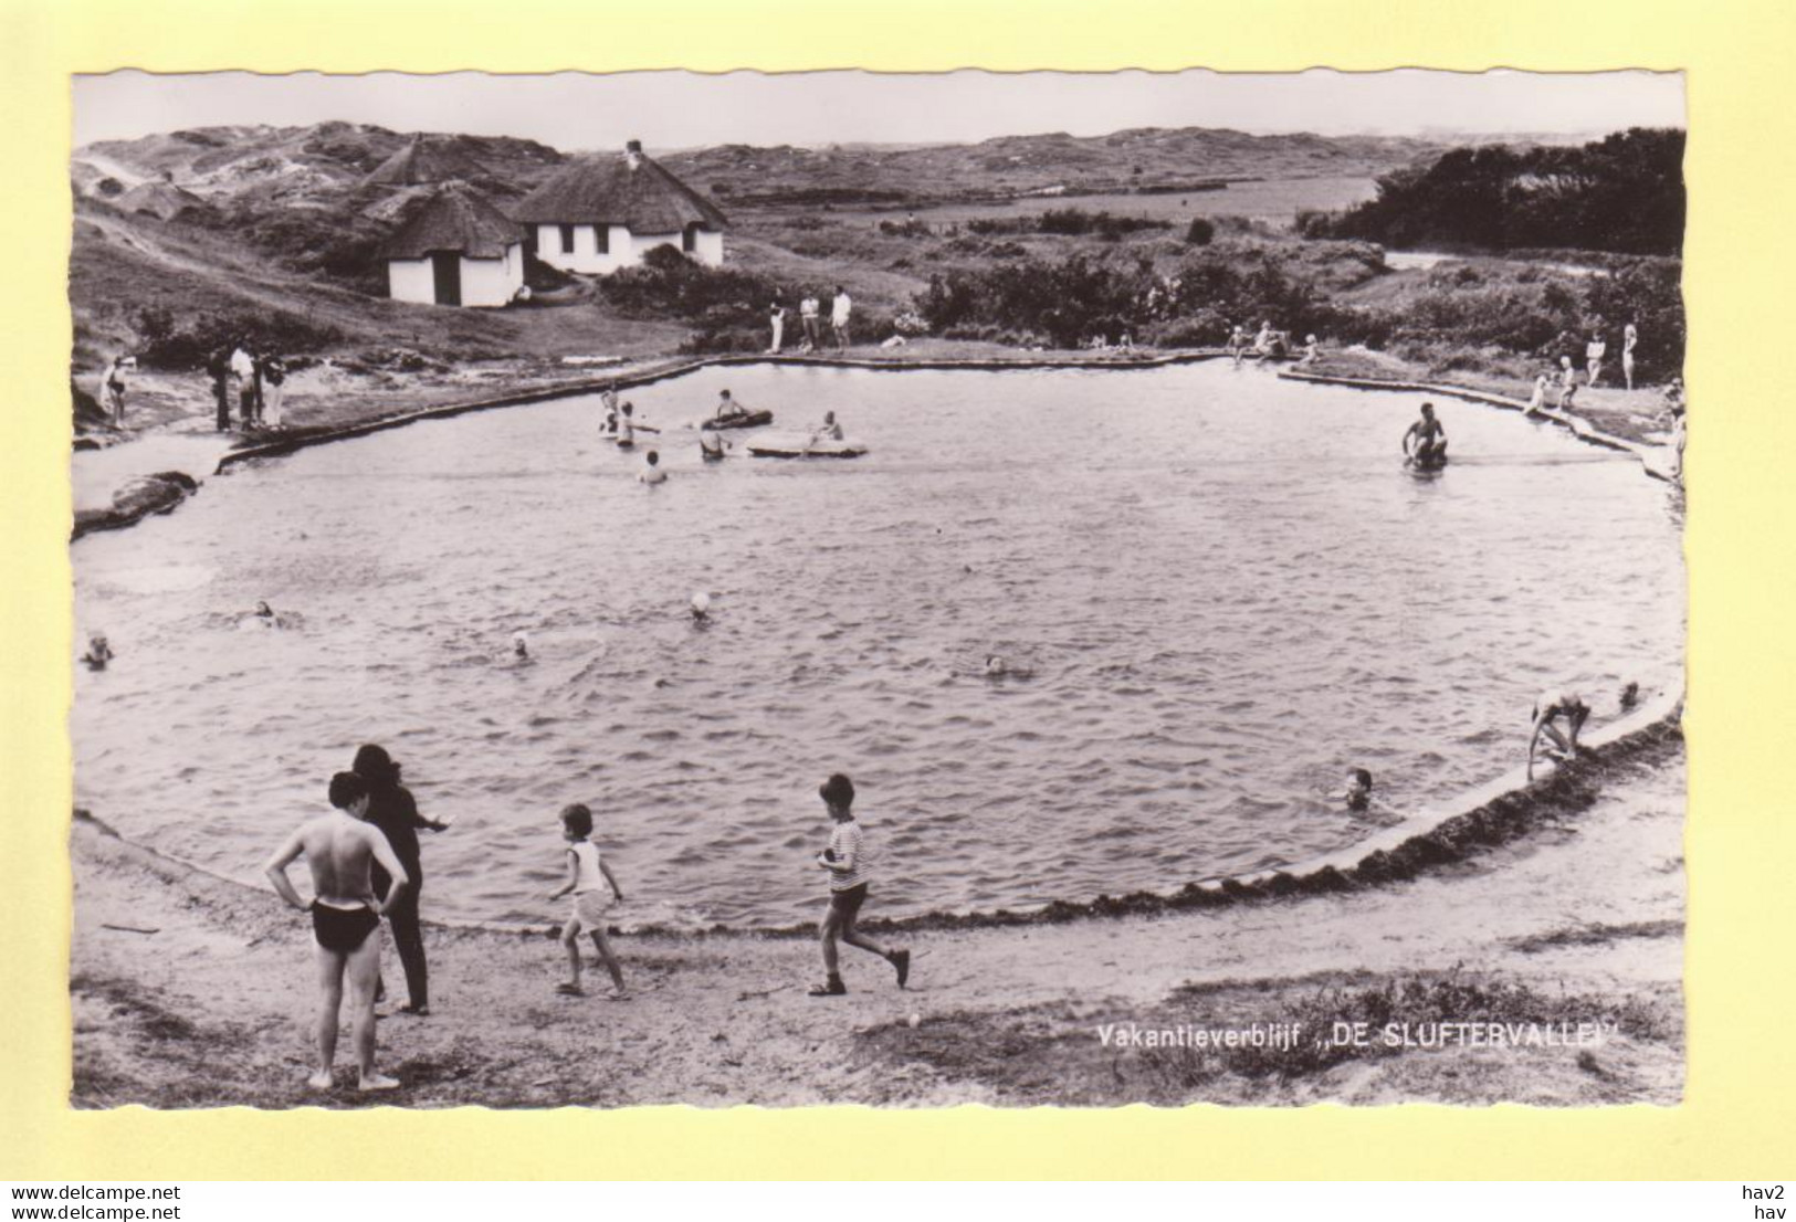
<instances>
[{"instance_id":1,"label":"shirtless person in dark swim trunks, hands on hips, back turned","mask_svg":"<svg viewBox=\"0 0 1796 1222\"><path fill-rule=\"evenodd\" d=\"M318 1071L305 1084L316 1091L330 1089L343 978L348 976L359 1089L390 1091L399 1082L374 1071L374 985L381 974L381 917L399 903L411 879L381 829L363 822L368 813L366 781L352 772L330 777L330 806L336 809L287 836L266 867L268 881L280 897L313 913L318 942ZM313 870L316 899L311 904L300 899L287 877L287 867L302 854ZM393 879L384 903L374 897L374 879L368 877L374 861Z\"/></svg>"}]
</instances>

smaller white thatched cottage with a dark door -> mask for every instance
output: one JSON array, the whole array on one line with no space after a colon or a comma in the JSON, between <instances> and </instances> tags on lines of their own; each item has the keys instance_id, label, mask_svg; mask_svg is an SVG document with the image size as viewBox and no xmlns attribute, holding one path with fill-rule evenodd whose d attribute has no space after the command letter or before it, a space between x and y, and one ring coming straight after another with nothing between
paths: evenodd
<instances>
[{"instance_id":1,"label":"smaller white thatched cottage with a dark door","mask_svg":"<svg viewBox=\"0 0 1796 1222\"><path fill-rule=\"evenodd\" d=\"M524 287L524 231L460 183L431 196L381 257L395 301L490 307Z\"/></svg>"}]
</instances>

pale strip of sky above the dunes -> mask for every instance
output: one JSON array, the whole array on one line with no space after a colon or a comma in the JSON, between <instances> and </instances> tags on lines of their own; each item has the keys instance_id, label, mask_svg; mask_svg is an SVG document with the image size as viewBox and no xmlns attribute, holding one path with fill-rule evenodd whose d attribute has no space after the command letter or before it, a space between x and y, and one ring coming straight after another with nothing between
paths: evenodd
<instances>
[{"instance_id":1,"label":"pale strip of sky above the dunes","mask_svg":"<svg viewBox=\"0 0 1796 1222\"><path fill-rule=\"evenodd\" d=\"M1124 127L1236 127L1255 135L1602 135L1685 124L1674 72L1302 74L1110 72L625 72L553 75L74 77L75 145L223 124L330 118L393 131L526 136L562 151L715 144L968 144Z\"/></svg>"}]
</instances>

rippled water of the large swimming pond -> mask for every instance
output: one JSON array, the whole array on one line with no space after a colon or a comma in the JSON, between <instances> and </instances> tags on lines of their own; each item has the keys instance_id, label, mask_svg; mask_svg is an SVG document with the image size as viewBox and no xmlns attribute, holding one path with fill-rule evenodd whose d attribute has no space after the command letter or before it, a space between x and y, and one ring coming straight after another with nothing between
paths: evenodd
<instances>
[{"instance_id":1,"label":"rippled water of the large swimming pond","mask_svg":"<svg viewBox=\"0 0 1796 1222\"><path fill-rule=\"evenodd\" d=\"M833 407L853 461L697 459L729 386ZM593 806L638 921L814 915L817 782L876 843L869 912L1173 890L1514 768L1534 696L1681 682L1681 510L1631 459L1446 400L1211 362L1135 371L706 370L409 425L210 479L74 547L77 802L235 877L363 741L427 815L426 912L542 921ZM638 452L639 454L639 452ZM695 628L693 592L713 596ZM280 630L242 615L268 599ZM510 657L530 633L532 660ZM1017 673L984 676L997 653Z\"/></svg>"}]
</instances>

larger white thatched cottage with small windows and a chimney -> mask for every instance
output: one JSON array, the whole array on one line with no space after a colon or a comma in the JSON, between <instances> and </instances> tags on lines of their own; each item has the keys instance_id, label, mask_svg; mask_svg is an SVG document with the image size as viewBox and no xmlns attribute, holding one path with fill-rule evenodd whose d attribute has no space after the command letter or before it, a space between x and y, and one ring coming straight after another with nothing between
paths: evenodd
<instances>
[{"instance_id":1,"label":"larger white thatched cottage with small windows and a chimney","mask_svg":"<svg viewBox=\"0 0 1796 1222\"><path fill-rule=\"evenodd\" d=\"M623 156L589 156L557 170L512 215L530 226L537 258L580 273L630 267L656 246L715 267L729 224L717 205L645 158L638 140Z\"/></svg>"}]
</instances>

